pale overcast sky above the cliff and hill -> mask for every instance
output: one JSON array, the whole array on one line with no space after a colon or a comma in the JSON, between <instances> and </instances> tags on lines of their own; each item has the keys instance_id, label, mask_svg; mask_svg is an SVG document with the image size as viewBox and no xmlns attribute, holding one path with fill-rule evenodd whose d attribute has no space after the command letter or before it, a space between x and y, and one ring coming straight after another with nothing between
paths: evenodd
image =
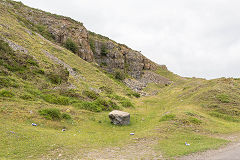
<instances>
[{"instance_id":1,"label":"pale overcast sky above the cliff and hill","mask_svg":"<svg viewBox=\"0 0 240 160\"><path fill-rule=\"evenodd\" d=\"M83 22L181 76L240 77L239 0L21 0Z\"/></svg>"}]
</instances>

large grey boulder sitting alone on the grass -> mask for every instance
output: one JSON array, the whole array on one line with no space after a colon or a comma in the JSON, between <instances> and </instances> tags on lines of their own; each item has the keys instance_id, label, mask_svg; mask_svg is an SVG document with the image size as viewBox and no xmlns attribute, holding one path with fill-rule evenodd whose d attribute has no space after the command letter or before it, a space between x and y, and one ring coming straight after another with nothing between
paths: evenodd
<instances>
[{"instance_id":1,"label":"large grey boulder sitting alone on the grass","mask_svg":"<svg viewBox=\"0 0 240 160\"><path fill-rule=\"evenodd\" d=\"M114 110L109 113L109 118L114 125L128 125L130 123L130 114L127 112Z\"/></svg>"}]
</instances>

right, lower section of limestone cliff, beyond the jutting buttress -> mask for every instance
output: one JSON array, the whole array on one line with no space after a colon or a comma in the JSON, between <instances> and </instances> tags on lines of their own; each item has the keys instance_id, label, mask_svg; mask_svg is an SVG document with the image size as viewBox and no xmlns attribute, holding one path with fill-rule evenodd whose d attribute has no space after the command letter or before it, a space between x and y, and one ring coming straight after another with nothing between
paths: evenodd
<instances>
[{"instance_id":1,"label":"right, lower section of limestone cliff, beyond the jutting buttress","mask_svg":"<svg viewBox=\"0 0 240 160\"><path fill-rule=\"evenodd\" d=\"M141 78L143 70L155 70L158 65L123 44L118 44L107 37L89 35L96 62L105 70L128 73L133 78ZM104 52L103 52L104 51Z\"/></svg>"}]
</instances>

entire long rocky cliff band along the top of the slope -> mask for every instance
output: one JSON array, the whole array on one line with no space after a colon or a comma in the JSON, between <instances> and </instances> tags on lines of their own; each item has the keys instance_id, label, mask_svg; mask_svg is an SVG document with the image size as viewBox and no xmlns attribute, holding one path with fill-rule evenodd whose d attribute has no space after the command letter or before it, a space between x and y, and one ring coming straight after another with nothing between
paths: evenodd
<instances>
[{"instance_id":1,"label":"entire long rocky cliff band along the top of the slope","mask_svg":"<svg viewBox=\"0 0 240 160\"><path fill-rule=\"evenodd\" d=\"M144 70L155 70L158 66L140 52L90 32L82 23L71 18L33 9L21 2L6 0L2 3L10 8L9 12L15 15L22 25L62 46L70 40L76 48L75 54L88 62L97 62L108 72L121 70L138 79Z\"/></svg>"}]
</instances>

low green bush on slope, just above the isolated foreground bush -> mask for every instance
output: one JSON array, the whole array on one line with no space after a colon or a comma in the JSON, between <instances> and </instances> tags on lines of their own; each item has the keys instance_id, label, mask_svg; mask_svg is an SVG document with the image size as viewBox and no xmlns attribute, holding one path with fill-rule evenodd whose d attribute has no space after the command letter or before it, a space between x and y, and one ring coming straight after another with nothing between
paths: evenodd
<instances>
[{"instance_id":1,"label":"low green bush on slope, just above the isolated foreground bush","mask_svg":"<svg viewBox=\"0 0 240 160\"><path fill-rule=\"evenodd\" d=\"M43 100L52 104L59 105L69 105L71 103L71 99L69 97L55 95L55 94L45 94L42 95Z\"/></svg>"}]
</instances>

